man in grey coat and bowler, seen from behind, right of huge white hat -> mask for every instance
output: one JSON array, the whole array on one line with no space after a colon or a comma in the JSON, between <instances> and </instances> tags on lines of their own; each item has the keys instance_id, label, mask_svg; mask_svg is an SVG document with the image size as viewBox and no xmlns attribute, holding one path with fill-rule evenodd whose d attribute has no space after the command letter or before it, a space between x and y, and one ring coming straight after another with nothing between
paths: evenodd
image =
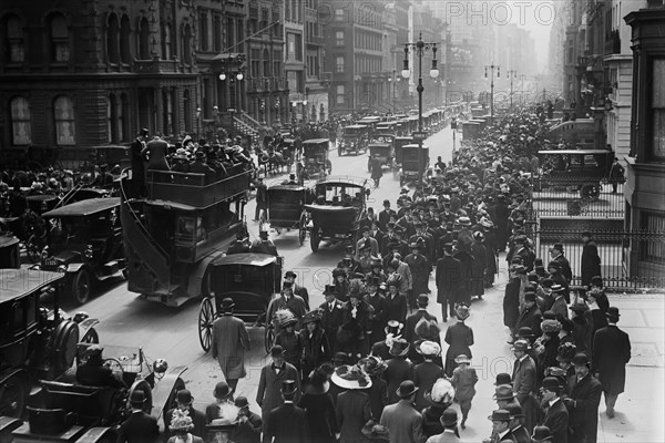
<instances>
[{"instance_id":1,"label":"man in grey coat and bowler, seen from behind, right of huge white hat","mask_svg":"<svg viewBox=\"0 0 665 443\"><path fill-rule=\"evenodd\" d=\"M390 443L424 443L422 415L413 408L418 388L405 380L397 389L399 401L383 408L380 424L390 430Z\"/></svg>"}]
</instances>

